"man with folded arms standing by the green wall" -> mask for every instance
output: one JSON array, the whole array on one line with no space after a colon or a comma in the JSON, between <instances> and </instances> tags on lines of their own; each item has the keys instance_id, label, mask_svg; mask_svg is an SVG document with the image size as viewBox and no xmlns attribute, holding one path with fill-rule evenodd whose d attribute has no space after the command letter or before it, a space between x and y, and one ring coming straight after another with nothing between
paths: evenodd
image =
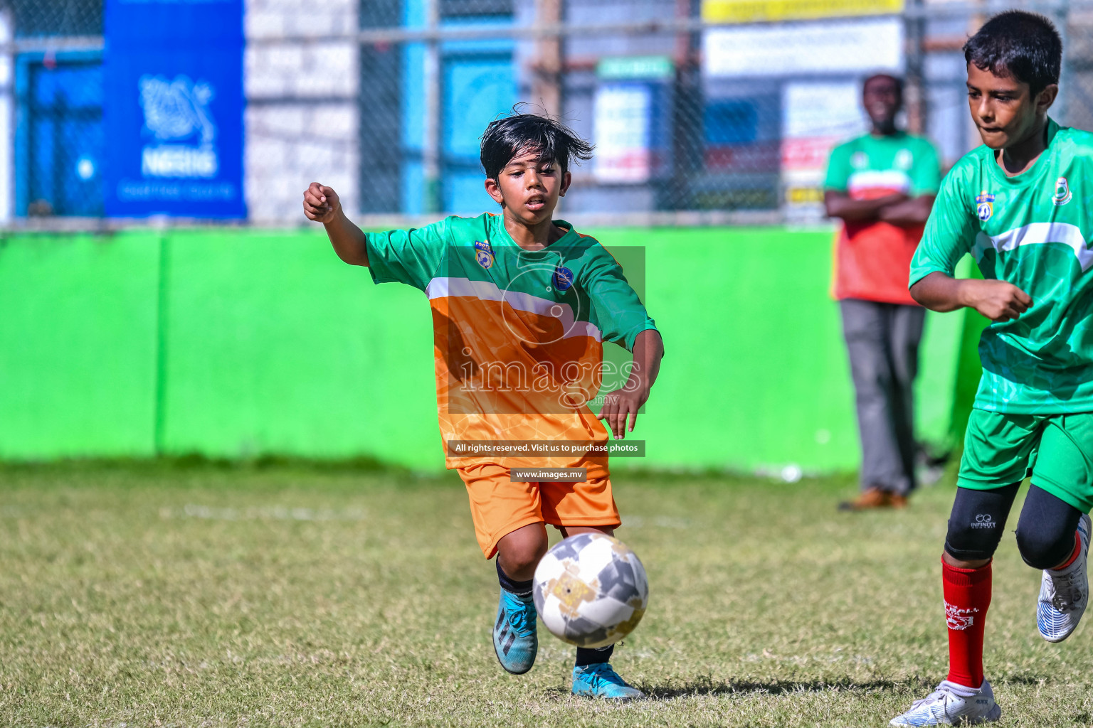
<instances>
[{"instance_id":1,"label":"man with folded arms standing by the green wall","mask_svg":"<svg viewBox=\"0 0 1093 728\"><path fill-rule=\"evenodd\" d=\"M910 259L940 184L929 141L896 127L903 82L866 79L872 128L831 153L824 207L843 220L833 293L843 317L861 441L861 493L843 510L902 508L915 488L914 381L926 311L907 293Z\"/></svg>"}]
</instances>

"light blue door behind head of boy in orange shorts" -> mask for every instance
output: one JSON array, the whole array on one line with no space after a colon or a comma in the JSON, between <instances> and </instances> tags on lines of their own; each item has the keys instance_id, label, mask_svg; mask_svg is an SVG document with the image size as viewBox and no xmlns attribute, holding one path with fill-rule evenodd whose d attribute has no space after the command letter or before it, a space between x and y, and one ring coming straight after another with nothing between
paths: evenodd
<instances>
[{"instance_id":1,"label":"light blue door behind head of boy in orange shorts","mask_svg":"<svg viewBox=\"0 0 1093 728\"><path fill-rule=\"evenodd\" d=\"M495 212L485 193L479 144L486 124L508 114L516 103L513 55L468 53L444 60L444 134L440 169L446 212L478 215Z\"/></svg>"}]
</instances>

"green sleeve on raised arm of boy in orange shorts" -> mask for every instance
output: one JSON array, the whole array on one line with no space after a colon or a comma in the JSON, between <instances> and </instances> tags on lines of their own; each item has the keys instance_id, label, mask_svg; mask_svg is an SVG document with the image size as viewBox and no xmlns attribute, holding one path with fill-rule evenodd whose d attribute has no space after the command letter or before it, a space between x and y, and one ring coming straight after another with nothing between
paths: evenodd
<instances>
[{"instance_id":1,"label":"green sleeve on raised arm of boy in orange shorts","mask_svg":"<svg viewBox=\"0 0 1093 728\"><path fill-rule=\"evenodd\" d=\"M409 230L367 232L368 271L378 283L404 283L425 290L440 265L447 220Z\"/></svg>"}]
</instances>

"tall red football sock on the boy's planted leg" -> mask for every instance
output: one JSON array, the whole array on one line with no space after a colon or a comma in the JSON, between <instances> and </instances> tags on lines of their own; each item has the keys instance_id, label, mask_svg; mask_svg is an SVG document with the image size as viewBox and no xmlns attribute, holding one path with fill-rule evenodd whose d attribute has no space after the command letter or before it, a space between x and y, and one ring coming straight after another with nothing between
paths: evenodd
<instances>
[{"instance_id":1,"label":"tall red football sock on the boy's planted leg","mask_svg":"<svg viewBox=\"0 0 1093 728\"><path fill-rule=\"evenodd\" d=\"M990 606L990 563L956 569L942 559L941 583L949 624L949 681L978 689L983 684L983 626Z\"/></svg>"}]
</instances>

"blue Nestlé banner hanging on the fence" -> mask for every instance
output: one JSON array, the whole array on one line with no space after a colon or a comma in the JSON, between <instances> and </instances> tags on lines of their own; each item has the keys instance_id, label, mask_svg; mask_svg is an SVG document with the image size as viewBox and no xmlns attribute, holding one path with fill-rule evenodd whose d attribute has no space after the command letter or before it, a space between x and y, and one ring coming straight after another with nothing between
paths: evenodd
<instances>
[{"instance_id":1,"label":"blue Nestl\u00e9 banner hanging on the fence","mask_svg":"<svg viewBox=\"0 0 1093 728\"><path fill-rule=\"evenodd\" d=\"M246 217L243 0L107 0L109 217Z\"/></svg>"}]
</instances>

